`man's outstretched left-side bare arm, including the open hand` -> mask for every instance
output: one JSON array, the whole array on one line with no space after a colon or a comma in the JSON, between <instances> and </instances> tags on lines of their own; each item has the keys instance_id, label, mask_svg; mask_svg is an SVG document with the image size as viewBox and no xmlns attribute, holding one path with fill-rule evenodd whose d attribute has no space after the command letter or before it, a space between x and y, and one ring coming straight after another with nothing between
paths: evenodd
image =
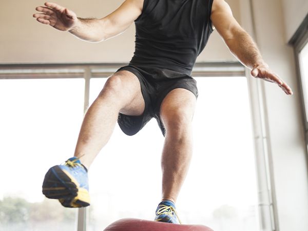
<instances>
[{"instance_id":1,"label":"man's outstretched left-side bare arm, including the open hand","mask_svg":"<svg viewBox=\"0 0 308 231\"><path fill-rule=\"evenodd\" d=\"M141 14L143 0L126 0L117 10L101 18L79 18L65 7L45 3L33 17L42 24L69 31L81 40L101 42L123 33Z\"/></svg>"}]
</instances>

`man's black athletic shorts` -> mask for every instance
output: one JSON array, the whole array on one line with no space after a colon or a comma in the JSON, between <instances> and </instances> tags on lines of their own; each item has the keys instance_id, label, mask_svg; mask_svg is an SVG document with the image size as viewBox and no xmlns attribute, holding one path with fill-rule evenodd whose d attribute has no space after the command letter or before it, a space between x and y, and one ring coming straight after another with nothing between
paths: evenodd
<instances>
[{"instance_id":1,"label":"man's black athletic shorts","mask_svg":"<svg viewBox=\"0 0 308 231\"><path fill-rule=\"evenodd\" d=\"M136 66L124 66L116 72L126 70L137 76L141 85L141 92L145 102L142 115L133 116L119 113L118 123L122 131L132 136L140 131L147 122L155 118L165 136L165 127L160 118L160 106L166 95L176 88L184 88L195 94L198 98L196 80L191 76L179 72L158 69L139 68Z\"/></svg>"}]
</instances>

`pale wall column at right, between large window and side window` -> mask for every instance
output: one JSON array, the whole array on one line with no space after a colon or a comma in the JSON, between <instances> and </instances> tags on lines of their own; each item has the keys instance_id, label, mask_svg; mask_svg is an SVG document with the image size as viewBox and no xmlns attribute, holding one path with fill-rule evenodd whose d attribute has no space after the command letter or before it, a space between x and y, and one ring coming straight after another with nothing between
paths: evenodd
<instances>
[{"instance_id":1,"label":"pale wall column at right, between large window and side window","mask_svg":"<svg viewBox=\"0 0 308 231\"><path fill-rule=\"evenodd\" d=\"M243 22L251 21L252 17L247 2L241 0ZM269 165L272 166L271 173L276 190L274 203L278 209L277 228L280 231L306 231L307 155L294 54L293 49L286 45L285 28L281 23L284 18L282 2L252 0L252 3L256 40L264 60L294 91L294 95L290 97L275 84L262 82L271 161ZM254 32L253 28L246 29Z\"/></svg>"}]
</instances>

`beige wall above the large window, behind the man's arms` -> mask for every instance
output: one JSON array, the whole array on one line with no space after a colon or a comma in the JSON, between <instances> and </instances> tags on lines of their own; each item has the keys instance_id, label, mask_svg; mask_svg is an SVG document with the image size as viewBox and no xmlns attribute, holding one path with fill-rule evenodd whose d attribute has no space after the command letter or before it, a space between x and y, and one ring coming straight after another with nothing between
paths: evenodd
<instances>
[{"instance_id":1,"label":"beige wall above the large window, behind the man's arms","mask_svg":"<svg viewBox=\"0 0 308 231\"><path fill-rule=\"evenodd\" d=\"M103 17L124 0L54 1L80 17ZM228 0L239 18L238 0ZM122 35L102 43L86 43L67 32L37 23L32 17L41 0L1 0L0 63L127 63L134 51L134 25ZM235 61L214 32L198 62Z\"/></svg>"}]
</instances>

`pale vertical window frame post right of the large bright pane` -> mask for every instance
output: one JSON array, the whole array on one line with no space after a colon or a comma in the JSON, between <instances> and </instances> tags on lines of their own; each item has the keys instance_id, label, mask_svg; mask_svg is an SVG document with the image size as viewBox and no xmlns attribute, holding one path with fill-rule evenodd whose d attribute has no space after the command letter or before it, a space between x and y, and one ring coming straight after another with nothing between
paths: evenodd
<instances>
[{"instance_id":1,"label":"pale vertical window frame post right of the large bright pane","mask_svg":"<svg viewBox=\"0 0 308 231\"><path fill-rule=\"evenodd\" d=\"M251 105L253 132L255 139L255 164L257 171L258 209L261 230L277 230L275 190L272 182L271 149L268 146L267 118L264 89L259 80L252 79L246 70L249 101Z\"/></svg>"}]
</instances>

